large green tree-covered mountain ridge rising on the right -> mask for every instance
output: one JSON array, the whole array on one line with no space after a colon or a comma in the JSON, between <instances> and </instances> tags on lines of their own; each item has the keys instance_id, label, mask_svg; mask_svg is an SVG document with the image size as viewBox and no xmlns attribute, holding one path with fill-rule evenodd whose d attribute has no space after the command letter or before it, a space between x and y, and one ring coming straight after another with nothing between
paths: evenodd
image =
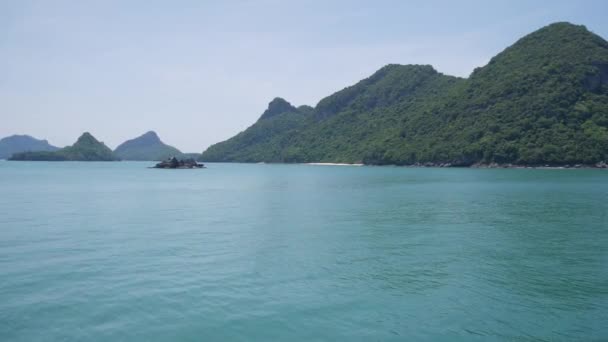
<instances>
[{"instance_id":1,"label":"large green tree-covered mountain ridge rising on the right","mask_svg":"<svg viewBox=\"0 0 608 342\"><path fill-rule=\"evenodd\" d=\"M388 65L315 108L283 102L201 160L593 164L608 160L608 42L556 23L468 79Z\"/></svg>"}]
</instances>

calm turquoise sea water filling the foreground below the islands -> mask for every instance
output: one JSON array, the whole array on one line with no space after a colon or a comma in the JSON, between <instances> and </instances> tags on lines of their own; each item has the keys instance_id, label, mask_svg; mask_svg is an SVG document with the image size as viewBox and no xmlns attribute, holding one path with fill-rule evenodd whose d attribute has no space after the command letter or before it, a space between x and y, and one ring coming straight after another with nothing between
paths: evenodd
<instances>
[{"instance_id":1,"label":"calm turquoise sea water filling the foreground below the islands","mask_svg":"<svg viewBox=\"0 0 608 342\"><path fill-rule=\"evenodd\" d=\"M608 340L608 171L0 162L0 341Z\"/></svg>"}]
</instances>

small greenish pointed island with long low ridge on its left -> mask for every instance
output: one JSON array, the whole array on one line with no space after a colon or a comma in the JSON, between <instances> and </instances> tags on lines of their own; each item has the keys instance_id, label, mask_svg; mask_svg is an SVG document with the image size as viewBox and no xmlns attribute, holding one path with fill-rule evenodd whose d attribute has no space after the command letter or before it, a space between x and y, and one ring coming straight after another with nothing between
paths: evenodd
<instances>
[{"instance_id":1,"label":"small greenish pointed island with long low ridge on its left","mask_svg":"<svg viewBox=\"0 0 608 342\"><path fill-rule=\"evenodd\" d=\"M89 132L83 133L72 146L54 152L17 153L10 160L36 161L113 161L119 160L112 150Z\"/></svg>"}]
</instances>

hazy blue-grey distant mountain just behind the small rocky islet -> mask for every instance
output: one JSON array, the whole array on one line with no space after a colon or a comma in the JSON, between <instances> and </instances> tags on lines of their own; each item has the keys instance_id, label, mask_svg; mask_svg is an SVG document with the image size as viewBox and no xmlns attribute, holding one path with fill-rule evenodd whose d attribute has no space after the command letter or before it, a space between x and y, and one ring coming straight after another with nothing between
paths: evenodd
<instances>
[{"instance_id":1,"label":"hazy blue-grey distant mountain just behind the small rocky islet","mask_svg":"<svg viewBox=\"0 0 608 342\"><path fill-rule=\"evenodd\" d=\"M182 155L177 148L164 144L153 131L125 141L116 147L114 154L123 160L165 160Z\"/></svg>"}]
</instances>

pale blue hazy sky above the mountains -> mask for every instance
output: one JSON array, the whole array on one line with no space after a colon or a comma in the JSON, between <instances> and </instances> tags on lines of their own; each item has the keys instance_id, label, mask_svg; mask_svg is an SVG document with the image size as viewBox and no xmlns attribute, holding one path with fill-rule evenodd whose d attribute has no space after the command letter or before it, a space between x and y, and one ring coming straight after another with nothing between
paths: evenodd
<instances>
[{"instance_id":1,"label":"pale blue hazy sky above the mountains","mask_svg":"<svg viewBox=\"0 0 608 342\"><path fill-rule=\"evenodd\" d=\"M316 105L389 63L467 77L556 21L608 38L608 1L0 0L0 137L202 152L275 97Z\"/></svg>"}]
</instances>

